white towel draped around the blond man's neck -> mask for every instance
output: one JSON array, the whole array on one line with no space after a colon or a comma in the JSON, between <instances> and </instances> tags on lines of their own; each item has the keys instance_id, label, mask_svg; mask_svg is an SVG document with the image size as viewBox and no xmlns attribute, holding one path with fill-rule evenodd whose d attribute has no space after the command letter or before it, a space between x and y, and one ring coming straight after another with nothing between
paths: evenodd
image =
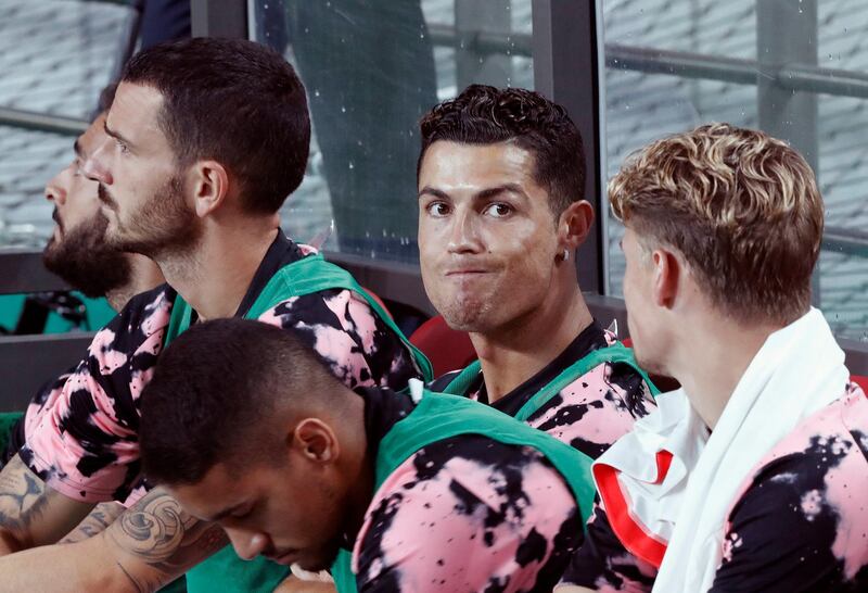
<instances>
[{"instance_id":1,"label":"white towel draped around the blond man's neck","mask_svg":"<svg viewBox=\"0 0 868 593\"><path fill-rule=\"evenodd\" d=\"M625 445L618 441L598 459L621 471L631 512L668 540L655 592L712 586L739 488L775 444L841 398L847 380L844 353L822 314L812 308L766 339L707 440L679 390L660 396L660 409L637 422ZM669 474L660 484L648 483L661 449L673 454Z\"/></svg>"}]
</instances>

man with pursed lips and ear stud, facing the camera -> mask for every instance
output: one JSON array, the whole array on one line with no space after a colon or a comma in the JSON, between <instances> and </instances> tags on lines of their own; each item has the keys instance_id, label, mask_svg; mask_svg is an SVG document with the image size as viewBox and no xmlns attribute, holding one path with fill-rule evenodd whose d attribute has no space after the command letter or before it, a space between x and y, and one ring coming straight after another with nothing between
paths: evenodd
<instances>
[{"instance_id":1,"label":"man with pursed lips and ear stud, facing the camera","mask_svg":"<svg viewBox=\"0 0 868 593\"><path fill-rule=\"evenodd\" d=\"M596 458L653 406L653 387L578 286L573 260L593 220L578 129L539 93L482 85L420 127L422 279L480 357L432 389Z\"/></svg>"}]
</instances>

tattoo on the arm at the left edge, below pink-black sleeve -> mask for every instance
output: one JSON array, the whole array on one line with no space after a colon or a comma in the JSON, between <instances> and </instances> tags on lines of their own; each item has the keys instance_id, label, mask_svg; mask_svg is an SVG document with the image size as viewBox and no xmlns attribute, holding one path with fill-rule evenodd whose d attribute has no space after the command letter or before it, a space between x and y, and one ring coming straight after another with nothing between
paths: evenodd
<instances>
[{"instance_id":1,"label":"tattoo on the arm at the left edge, below pink-black sleeve","mask_svg":"<svg viewBox=\"0 0 868 593\"><path fill-rule=\"evenodd\" d=\"M46 483L16 455L0 474L0 529L26 544L30 523L58 495L53 489L46 488Z\"/></svg>"}]
</instances>

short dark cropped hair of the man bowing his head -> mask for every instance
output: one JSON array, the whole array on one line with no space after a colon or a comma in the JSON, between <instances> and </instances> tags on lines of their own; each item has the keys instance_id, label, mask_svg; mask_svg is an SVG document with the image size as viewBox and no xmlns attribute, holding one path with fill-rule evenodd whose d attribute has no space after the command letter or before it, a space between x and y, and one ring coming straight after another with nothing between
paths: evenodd
<instances>
[{"instance_id":1,"label":"short dark cropped hair of the man bowing his head","mask_svg":"<svg viewBox=\"0 0 868 593\"><path fill-rule=\"evenodd\" d=\"M161 355L141 396L142 465L152 483L193 484L218 463L273 456L275 418L356 396L295 336L247 319L184 331ZM279 436L282 438L282 436Z\"/></svg>"}]
</instances>

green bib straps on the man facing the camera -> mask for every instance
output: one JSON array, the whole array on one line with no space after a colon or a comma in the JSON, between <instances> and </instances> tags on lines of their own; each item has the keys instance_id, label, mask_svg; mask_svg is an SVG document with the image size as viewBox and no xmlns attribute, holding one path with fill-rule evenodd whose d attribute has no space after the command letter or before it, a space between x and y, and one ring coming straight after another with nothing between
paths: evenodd
<instances>
[{"instance_id":1,"label":"green bib straps on the man facing the camera","mask_svg":"<svg viewBox=\"0 0 868 593\"><path fill-rule=\"evenodd\" d=\"M631 366L633 369L642 377L646 384L648 384L652 395L658 395L660 393L660 390L658 390L654 383L651 382L651 379L649 379L646 371L639 368L639 365L636 363L636 358L633 355L633 350L626 348L621 342L616 342L611 346L601 348L588 353L586 356L579 358L563 369L560 375L558 375L548 384L546 384L546 387L540 389L534 394L533 398L525 402L521 409L519 409L519 412L515 414L515 418L519 420L526 420L533 416L537 409L546 405L549 400L560 393L563 388L588 373L593 367L603 363L624 363ZM454 395L467 395L468 391L470 390L470 386L476 380L481 371L482 366L480 362L474 361L464 369L462 369L455 379L451 380L446 389L444 389L444 392L451 393Z\"/></svg>"}]
</instances>

